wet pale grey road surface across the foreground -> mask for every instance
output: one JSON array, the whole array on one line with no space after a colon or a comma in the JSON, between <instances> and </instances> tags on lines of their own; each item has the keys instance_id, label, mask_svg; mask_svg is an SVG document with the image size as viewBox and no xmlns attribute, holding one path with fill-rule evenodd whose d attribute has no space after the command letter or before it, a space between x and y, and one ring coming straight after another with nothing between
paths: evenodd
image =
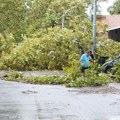
<instances>
[{"instance_id":1,"label":"wet pale grey road surface across the foreground","mask_svg":"<svg viewBox=\"0 0 120 120\"><path fill-rule=\"evenodd\" d=\"M120 120L119 89L98 94L0 80L0 120Z\"/></svg>"}]
</instances>

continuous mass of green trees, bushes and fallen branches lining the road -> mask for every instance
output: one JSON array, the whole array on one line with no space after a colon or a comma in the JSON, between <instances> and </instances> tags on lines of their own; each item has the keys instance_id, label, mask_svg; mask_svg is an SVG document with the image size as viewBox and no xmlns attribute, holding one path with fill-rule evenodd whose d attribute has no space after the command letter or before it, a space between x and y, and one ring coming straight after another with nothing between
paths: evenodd
<instances>
[{"instance_id":1,"label":"continuous mass of green trees, bushes and fallen branches lining the road","mask_svg":"<svg viewBox=\"0 0 120 120\"><path fill-rule=\"evenodd\" d=\"M89 6L92 0L2 0L0 69L18 71L3 79L69 87L120 82L119 63L103 74L97 62L100 56L109 56L110 60L120 52L120 43L106 38L105 24L97 25L104 32L97 31L96 63L91 64L86 78L81 75L79 58L92 46L92 21L86 14ZM66 75L24 77L19 72L27 70L63 70Z\"/></svg>"}]
</instances>

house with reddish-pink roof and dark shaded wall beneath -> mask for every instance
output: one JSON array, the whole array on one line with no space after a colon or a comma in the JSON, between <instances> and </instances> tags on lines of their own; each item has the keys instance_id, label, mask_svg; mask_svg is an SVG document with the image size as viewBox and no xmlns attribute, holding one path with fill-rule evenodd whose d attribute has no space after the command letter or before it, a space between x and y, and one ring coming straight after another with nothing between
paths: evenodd
<instances>
[{"instance_id":1,"label":"house with reddish-pink roof and dark shaded wall beneath","mask_svg":"<svg viewBox=\"0 0 120 120\"><path fill-rule=\"evenodd\" d=\"M120 15L102 16L97 22L107 24L108 38L120 42Z\"/></svg>"}]
</instances>

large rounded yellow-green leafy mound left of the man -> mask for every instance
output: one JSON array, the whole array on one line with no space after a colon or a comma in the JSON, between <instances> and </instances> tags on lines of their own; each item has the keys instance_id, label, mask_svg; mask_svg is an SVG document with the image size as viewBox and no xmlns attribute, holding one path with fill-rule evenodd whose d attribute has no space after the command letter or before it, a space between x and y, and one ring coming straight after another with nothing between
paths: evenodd
<instances>
[{"instance_id":1,"label":"large rounded yellow-green leafy mound left of the man","mask_svg":"<svg viewBox=\"0 0 120 120\"><path fill-rule=\"evenodd\" d=\"M14 70L62 69L75 52L74 33L68 29L49 29L39 38L25 38L9 54L2 56L1 68Z\"/></svg>"}]
</instances>

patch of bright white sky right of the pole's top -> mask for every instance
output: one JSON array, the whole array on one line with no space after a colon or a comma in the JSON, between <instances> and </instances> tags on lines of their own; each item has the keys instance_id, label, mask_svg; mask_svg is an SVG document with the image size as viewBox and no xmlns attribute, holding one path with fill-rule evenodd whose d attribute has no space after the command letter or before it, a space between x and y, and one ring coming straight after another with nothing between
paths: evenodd
<instances>
[{"instance_id":1,"label":"patch of bright white sky right of the pole's top","mask_svg":"<svg viewBox=\"0 0 120 120\"><path fill-rule=\"evenodd\" d=\"M109 13L107 12L107 8L109 6L112 6L113 3L115 2L115 0L107 0L107 2L101 2L99 3L99 5L101 6L101 10L102 10L102 15L109 15Z\"/></svg>"}]
</instances>

